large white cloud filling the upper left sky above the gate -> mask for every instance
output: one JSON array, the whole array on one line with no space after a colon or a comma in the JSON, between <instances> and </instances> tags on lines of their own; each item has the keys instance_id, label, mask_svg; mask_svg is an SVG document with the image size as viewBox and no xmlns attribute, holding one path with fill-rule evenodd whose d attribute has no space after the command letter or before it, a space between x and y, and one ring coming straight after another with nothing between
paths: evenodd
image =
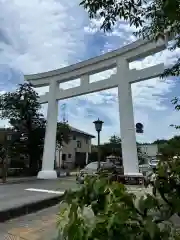
<instances>
[{"instance_id":1,"label":"large white cloud filling the upper left sky above the gate","mask_svg":"<svg viewBox=\"0 0 180 240\"><path fill-rule=\"evenodd\" d=\"M0 44L0 63L37 73L68 65L86 50L78 1L0 0L0 5L0 28L10 43Z\"/></svg>"}]
</instances>

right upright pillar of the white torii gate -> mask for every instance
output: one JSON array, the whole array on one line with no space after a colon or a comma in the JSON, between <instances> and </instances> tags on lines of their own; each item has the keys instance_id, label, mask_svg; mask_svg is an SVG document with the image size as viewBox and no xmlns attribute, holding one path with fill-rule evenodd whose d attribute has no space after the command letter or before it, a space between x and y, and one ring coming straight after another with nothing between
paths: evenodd
<instances>
[{"instance_id":1,"label":"right upright pillar of the white torii gate","mask_svg":"<svg viewBox=\"0 0 180 240\"><path fill-rule=\"evenodd\" d=\"M131 79L133 76L126 60L119 59L117 61L117 77L121 78L118 84L118 103L124 175L138 177L142 174L139 173L134 124L131 91Z\"/></svg>"}]
</instances>

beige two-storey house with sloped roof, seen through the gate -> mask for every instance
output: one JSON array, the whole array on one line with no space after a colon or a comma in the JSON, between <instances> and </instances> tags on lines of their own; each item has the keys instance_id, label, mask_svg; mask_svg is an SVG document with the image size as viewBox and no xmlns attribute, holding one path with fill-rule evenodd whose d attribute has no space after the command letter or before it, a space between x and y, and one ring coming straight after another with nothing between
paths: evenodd
<instances>
[{"instance_id":1,"label":"beige two-storey house with sloped roof, seen through the gate","mask_svg":"<svg viewBox=\"0 0 180 240\"><path fill-rule=\"evenodd\" d=\"M88 162L91 153L91 139L95 136L71 127L71 137L68 144L56 150L57 166L65 166L69 169L83 167Z\"/></svg>"}]
</instances>

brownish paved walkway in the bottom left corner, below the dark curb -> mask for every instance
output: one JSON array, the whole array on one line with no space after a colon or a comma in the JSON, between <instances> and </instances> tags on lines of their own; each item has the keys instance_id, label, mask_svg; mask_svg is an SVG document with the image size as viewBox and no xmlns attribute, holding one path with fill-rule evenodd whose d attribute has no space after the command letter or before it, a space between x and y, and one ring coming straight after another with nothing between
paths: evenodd
<instances>
[{"instance_id":1,"label":"brownish paved walkway in the bottom left corner, below the dark curb","mask_svg":"<svg viewBox=\"0 0 180 240\"><path fill-rule=\"evenodd\" d=\"M41 210L0 223L1 240L54 240L57 239L57 213L59 206ZM59 239L58 239L59 240Z\"/></svg>"}]
</instances>

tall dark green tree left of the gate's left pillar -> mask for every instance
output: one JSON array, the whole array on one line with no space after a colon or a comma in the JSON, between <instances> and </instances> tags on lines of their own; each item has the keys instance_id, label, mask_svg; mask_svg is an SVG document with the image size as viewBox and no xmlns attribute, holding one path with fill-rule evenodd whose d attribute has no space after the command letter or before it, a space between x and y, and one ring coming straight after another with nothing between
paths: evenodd
<instances>
[{"instance_id":1,"label":"tall dark green tree left of the gate's left pillar","mask_svg":"<svg viewBox=\"0 0 180 240\"><path fill-rule=\"evenodd\" d=\"M39 96L29 83L20 84L15 92L0 96L0 118L8 119L14 130L11 153L29 159L29 173L37 173L44 143L46 121L40 114Z\"/></svg>"}]
</instances>

